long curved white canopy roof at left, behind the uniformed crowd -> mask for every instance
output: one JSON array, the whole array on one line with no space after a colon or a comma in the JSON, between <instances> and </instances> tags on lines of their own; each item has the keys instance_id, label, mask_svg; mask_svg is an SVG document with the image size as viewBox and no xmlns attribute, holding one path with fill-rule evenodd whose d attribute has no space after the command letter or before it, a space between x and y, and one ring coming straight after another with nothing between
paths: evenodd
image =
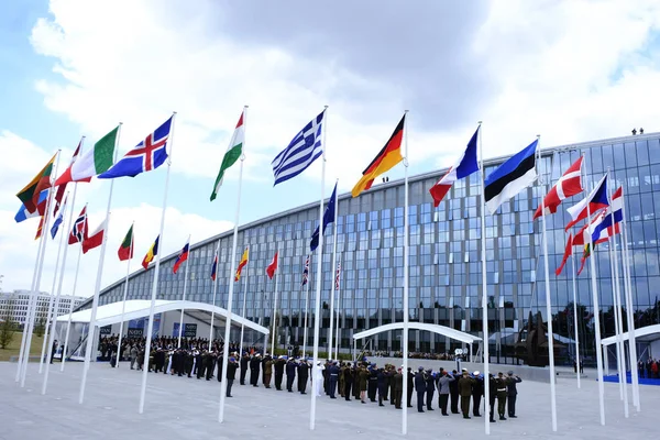
<instances>
[{"instance_id":1,"label":"long curved white canopy roof at left, behind the uniformed crowd","mask_svg":"<svg viewBox=\"0 0 660 440\"><path fill-rule=\"evenodd\" d=\"M124 308L124 321L131 319L139 319L148 317L148 309L151 307L151 300L146 299L132 299L125 302ZM99 306L97 309L97 327L109 326L112 323L121 322L121 308L122 302L112 302L105 306ZM185 309L187 315L193 316L200 321L210 323L211 314L215 312L215 322L218 324L223 323L227 320L227 310L211 306L207 302L193 302L193 301L166 301L156 300L156 307L154 314L163 314L166 311ZM69 315L63 315L57 318L57 321L68 321ZM89 322L91 320L91 309L79 310L72 314L72 322ZM235 326L245 326L249 329L256 330L260 333L268 334L268 329L252 322L237 314L231 315L231 323Z\"/></svg>"}]
</instances>

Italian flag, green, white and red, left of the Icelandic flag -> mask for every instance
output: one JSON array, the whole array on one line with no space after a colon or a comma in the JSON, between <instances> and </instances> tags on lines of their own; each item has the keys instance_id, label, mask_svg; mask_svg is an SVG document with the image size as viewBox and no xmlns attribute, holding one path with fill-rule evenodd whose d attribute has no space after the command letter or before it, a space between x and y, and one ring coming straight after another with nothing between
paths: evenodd
<instances>
[{"instance_id":1,"label":"Italian flag, green, white and red, left of the Icelandic flag","mask_svg":"<svg viewBox=\"0 0 660 440\"><path fill-rule=\"evenodd\" d=\"M114 161L114 144L118 134L119 127L94 144L94 148L79 155L76 162L57 178L55 186L69 182L89 182L94 176L106 173Z\"/></svg>"}]
</instances>

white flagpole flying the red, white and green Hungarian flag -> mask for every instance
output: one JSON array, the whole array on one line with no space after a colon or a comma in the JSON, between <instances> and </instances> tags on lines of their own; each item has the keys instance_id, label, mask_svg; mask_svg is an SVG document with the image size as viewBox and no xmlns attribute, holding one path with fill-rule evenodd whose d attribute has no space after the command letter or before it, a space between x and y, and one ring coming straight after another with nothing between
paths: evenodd
<instances>
[{"instance_id":1,"label":"white flagpole flying the red, white and green Hungarian flag","mask_svg":"<svg viewBox=\"0 0 660 440\"><path fill-rule=\"evenodd\" d=\"M245 127L248 117L248 106L243 107L243 127ZM245 130L246 131L246 130ZM241 154L241 164L239 167L239 190L237 195L237 212L234 217L233 244L231 249L231 272L229 284L229 297L227 299L227 322L224 323L224 344L222 345L222 382L220 383L220 408L218 410L218 421L222 424L224 420L224 400L227 395L227 363L229 361L229 338L231 334L231 308L234 290L234 274L237 271L237 242L239 241L239 219L241 213L241 189L243 185L243 162L245 161L245 139L243 139L243 147ZM250 257L250 256L249 256Z\"/></svg>"}]
</instances>

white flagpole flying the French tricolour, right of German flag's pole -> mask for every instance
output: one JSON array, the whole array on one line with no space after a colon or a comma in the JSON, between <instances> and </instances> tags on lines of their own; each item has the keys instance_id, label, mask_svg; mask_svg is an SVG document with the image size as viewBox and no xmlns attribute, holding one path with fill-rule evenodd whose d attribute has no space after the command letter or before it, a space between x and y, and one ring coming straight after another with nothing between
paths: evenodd
<instances>
[{"instance_id":1,"label":"white flagpole flying the French tricolour, right of German flag's pole","mask_svg":"<svg viewBox=\"0 0 660 440\"><path fill-rule=\"evenodd\" d=\"M481 206L481 244L482 244L482 332L483 332L483 345L484 345L484 399L486 408L491 405L491 376L490 376L490 353L488 353L488 290L486 287L486 194L485 184L486 169L484 168L484 148L482 146L482 121L479 121L479 162L481 167L481 194L482 194L482 206ZM486 436L491 435L491 420L484 415L484 427Z\"/></svg>"}]
</instances>

